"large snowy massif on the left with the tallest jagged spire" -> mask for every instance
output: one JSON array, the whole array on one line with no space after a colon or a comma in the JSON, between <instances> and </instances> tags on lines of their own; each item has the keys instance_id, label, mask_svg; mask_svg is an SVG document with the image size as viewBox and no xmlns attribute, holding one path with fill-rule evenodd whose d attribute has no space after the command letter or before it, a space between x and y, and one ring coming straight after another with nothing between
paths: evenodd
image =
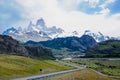
<instances>
[{"instance_id":1,"label":"large snowy massif on the left with the tallest jagged spire","mask_svg":"<svg viewBox=\"0 0 120 80\"><path fill-rule=\"evenodd\" d=\"M52 39L51 36L55 34L61 34L64 32L61 28L47 27L44 20L41 18L37 20L36 24L33 24L30 21L28 27L26 29L22 29L21 27L9 28L3 32L3 35L12 36L14 39L17 39L22 42L26 42L29 40L33 41L46 41Z\"/></svg>"}]
</instances>

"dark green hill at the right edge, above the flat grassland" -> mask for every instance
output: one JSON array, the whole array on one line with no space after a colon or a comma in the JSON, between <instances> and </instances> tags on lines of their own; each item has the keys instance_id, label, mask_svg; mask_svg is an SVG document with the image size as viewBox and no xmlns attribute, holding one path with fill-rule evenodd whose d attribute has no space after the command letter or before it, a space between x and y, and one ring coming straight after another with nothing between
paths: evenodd
<instances>
[{"instance_id":1,"label":"dark green hill at the right edge, above the flat grassland","mask_svg":"<svg viewBox=\"0 0 120 80\"><path fill-rule=\"evenodd\" d=\"M88 57L120 57L120 41L109 40L99 43L87 51Z\"/></svg>"}]
</instances>

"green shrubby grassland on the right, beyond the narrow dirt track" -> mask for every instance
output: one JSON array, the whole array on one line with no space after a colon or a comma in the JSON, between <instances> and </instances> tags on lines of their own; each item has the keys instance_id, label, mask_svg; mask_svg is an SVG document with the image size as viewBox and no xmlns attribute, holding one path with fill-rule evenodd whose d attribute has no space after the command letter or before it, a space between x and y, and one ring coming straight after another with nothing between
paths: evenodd
<instances>
[{"instance_id":1,"label":"green shrubby grassland on the right, beyond the narrow dirt track","mask_svg":"<svg viewBox=\"0 0 120 80\"><path fill-rule=\"evenodd\" d=\"M87 65L88 68L95 69L110 76L120 76L120 60L80 59L66 62Z\"/></svg>"}]
</instances>

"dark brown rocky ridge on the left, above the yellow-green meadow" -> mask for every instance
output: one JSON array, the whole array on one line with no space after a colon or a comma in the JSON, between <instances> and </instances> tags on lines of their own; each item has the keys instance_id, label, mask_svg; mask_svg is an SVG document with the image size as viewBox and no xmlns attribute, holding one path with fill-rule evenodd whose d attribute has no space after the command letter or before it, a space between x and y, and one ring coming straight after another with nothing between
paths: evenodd
<instances>
[{"instance_id":1,"label":"dark brown rocky ridge on the left, above the yellow-green meadow","mask_svg":"<svg viewBox=\"0 0 120 80\"><path fill-rule=\"evenodd\" d=\"M41 46L24 46L6 35L0 35L0 54L54 58L50 49Z\"/></svg>"}]
</instances>

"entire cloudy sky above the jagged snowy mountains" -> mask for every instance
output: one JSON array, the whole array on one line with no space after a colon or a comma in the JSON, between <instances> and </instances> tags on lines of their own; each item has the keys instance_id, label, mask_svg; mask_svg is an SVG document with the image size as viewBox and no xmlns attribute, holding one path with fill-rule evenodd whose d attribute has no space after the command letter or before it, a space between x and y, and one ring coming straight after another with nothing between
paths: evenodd
<instances>
[{"instance_id":1,"label":"entire cloudy sky above the jagged snowy mountains","mask_svg":"<svg viewBox=\"0 0 120 80\"><path fill-rule=\"evenodd\" d=\"M0 0L0 33L41 17L48 27L120 36L120 0Z\"/></svg>"}]
</instances>

